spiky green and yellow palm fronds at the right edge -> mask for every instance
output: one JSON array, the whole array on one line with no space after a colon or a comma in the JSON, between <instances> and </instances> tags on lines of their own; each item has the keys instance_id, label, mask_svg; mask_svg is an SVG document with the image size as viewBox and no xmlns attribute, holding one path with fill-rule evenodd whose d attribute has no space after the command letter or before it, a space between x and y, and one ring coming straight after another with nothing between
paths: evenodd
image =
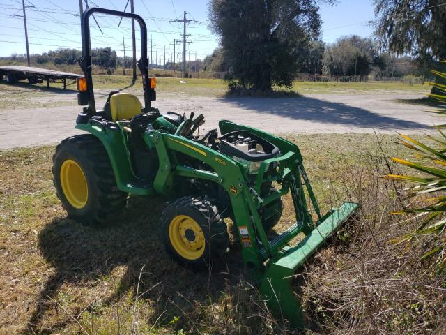
<instances>
[{"instance_id":1,"label":"spiky green and yellow palm fronds at the right edge","mask_svg":"<svg viewBox=\"0 0 446 335\"><path fill-rule=\"evenodd\" d=\"M446 63L446 60L441 60L441 62ZM446 73L437 70L432 70L431 72L443 78L443 80L446 79ZM436 87L437 91L440 91L440 94L431 94L429 96L439 103L436 106L438 109L431 112L440 117L446 117L446 84L435 82L431 83L431 85ZM445 94L442 94L443 92ZM387 174L384 178L415 184L408 189L406 196L406 200L411 201L411 206L401 211L395 211L392 214L415 214L414 218L422 218L424 216L422 223L415 230L392 239L391 242L394 244L406 242L410 245L420 241L417 237L434 237L434 242L429 244L431 247L424 253L422 260L436 257L434 264L437 269L444 269L446 267L446 258L443 252L446 249L446 238L444 238L446 230L446 133L443 132L443 129L446 128L446 124L436 125L434 128L437 129L440 138L432 135L426 135L426 137L438 144L438 148L400 134L401 144L414 151L416 158L420 161L414 162L401 158L392 158L392 161L422 172L424 176ZM431 166L433 164L436 165L435 168ZM417 200L418 197L426 197L426 195L430 195L430 197ZM440 236L443 236L443 239Z\"/></svg>"}]
</instances>

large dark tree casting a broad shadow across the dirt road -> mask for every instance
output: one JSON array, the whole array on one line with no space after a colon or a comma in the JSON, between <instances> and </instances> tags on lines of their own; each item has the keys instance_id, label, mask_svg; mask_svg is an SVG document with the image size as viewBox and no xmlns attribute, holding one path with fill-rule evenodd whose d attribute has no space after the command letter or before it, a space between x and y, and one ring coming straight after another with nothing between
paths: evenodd
<instances>
[{"instance_id":1,"label":"large dark tree casting a broad shadow across the dirt road","mask_svg":"<svg viewBox=\"0 0 446 335\"><path fill-rule=\"evenodd\" d=\"M317 2L211 0L210 28L220 35L230 87L271 91L273 85L291 86L310 40L319 35Z\"/></svg>"}]
</instances>

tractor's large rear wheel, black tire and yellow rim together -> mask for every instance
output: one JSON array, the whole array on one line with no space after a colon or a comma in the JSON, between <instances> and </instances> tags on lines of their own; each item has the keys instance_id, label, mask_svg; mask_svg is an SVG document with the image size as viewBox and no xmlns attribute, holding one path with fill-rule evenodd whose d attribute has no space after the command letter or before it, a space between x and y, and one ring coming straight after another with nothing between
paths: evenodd
<instances>
[{"instance_id":1,"label":"tractor's large rear wheel, black tire and yellow rim together","mask_svg":"<svg viewBox=\"0 0 446 335\"><path fill-rule=\"evenodd\" d=\"M103 223L121 214L127 193L118 190L107 151L91 134L69 137L56 147L53 182L70 218Z\"/></svg>"}]
</instances>

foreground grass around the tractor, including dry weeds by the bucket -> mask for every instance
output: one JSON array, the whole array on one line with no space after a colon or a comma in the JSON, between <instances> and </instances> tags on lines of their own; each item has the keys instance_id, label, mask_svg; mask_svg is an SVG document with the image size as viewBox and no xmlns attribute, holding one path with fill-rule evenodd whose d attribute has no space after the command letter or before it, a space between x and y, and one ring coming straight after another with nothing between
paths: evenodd
<instances>
[{"instance_id":1,"label":"foreground grass around the tractor, including dry weeds by the bucket","mask_svg":"<svg viewBox=\"0 0 446 335\"><path fill-rule=\"evenodd\" d=\"M385 156L408 156L380 136ZM289 137L302 149L324 210L341 200L362 209L300 273L295 292L307 334L431 334L445 316L438 276L422 253L389 243L410 225L373 135ZM212 273L172 261L160 241L166 199L132 197L114 222L66 218L52 185L54 147L0 151L0 334L288 334L243 274L240 248ZM395 167L394 167L395 168ZM278 230L289 225L291 211ZM231 222L228 221L231 225ZM417 269L416 271L414 269Z\"/></svg>"}]
</instances>

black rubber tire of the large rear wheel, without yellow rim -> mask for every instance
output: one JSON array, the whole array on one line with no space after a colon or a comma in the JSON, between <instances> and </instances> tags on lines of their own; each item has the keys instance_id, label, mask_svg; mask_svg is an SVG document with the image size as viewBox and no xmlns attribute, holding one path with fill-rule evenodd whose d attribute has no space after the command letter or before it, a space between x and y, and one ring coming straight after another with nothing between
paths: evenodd
<instances>
[{"instance_id":1,"label":"black rubber tire of the large rear wheel, without yellow rim","mask_svg":"<svg viewBox=\"0 0 446 335\"><path fill-rule=\"evenodd\" d=\"M73 207L63 193L61 165L66 160L75 161L86 178L88 196L81 209ZM77 135L63 140L56 147L52 173L57 197L68 216L76 221L104 223L125 209L128 194L118 190L107 151L94 135Z\"/></svg>"}]
</instances>

